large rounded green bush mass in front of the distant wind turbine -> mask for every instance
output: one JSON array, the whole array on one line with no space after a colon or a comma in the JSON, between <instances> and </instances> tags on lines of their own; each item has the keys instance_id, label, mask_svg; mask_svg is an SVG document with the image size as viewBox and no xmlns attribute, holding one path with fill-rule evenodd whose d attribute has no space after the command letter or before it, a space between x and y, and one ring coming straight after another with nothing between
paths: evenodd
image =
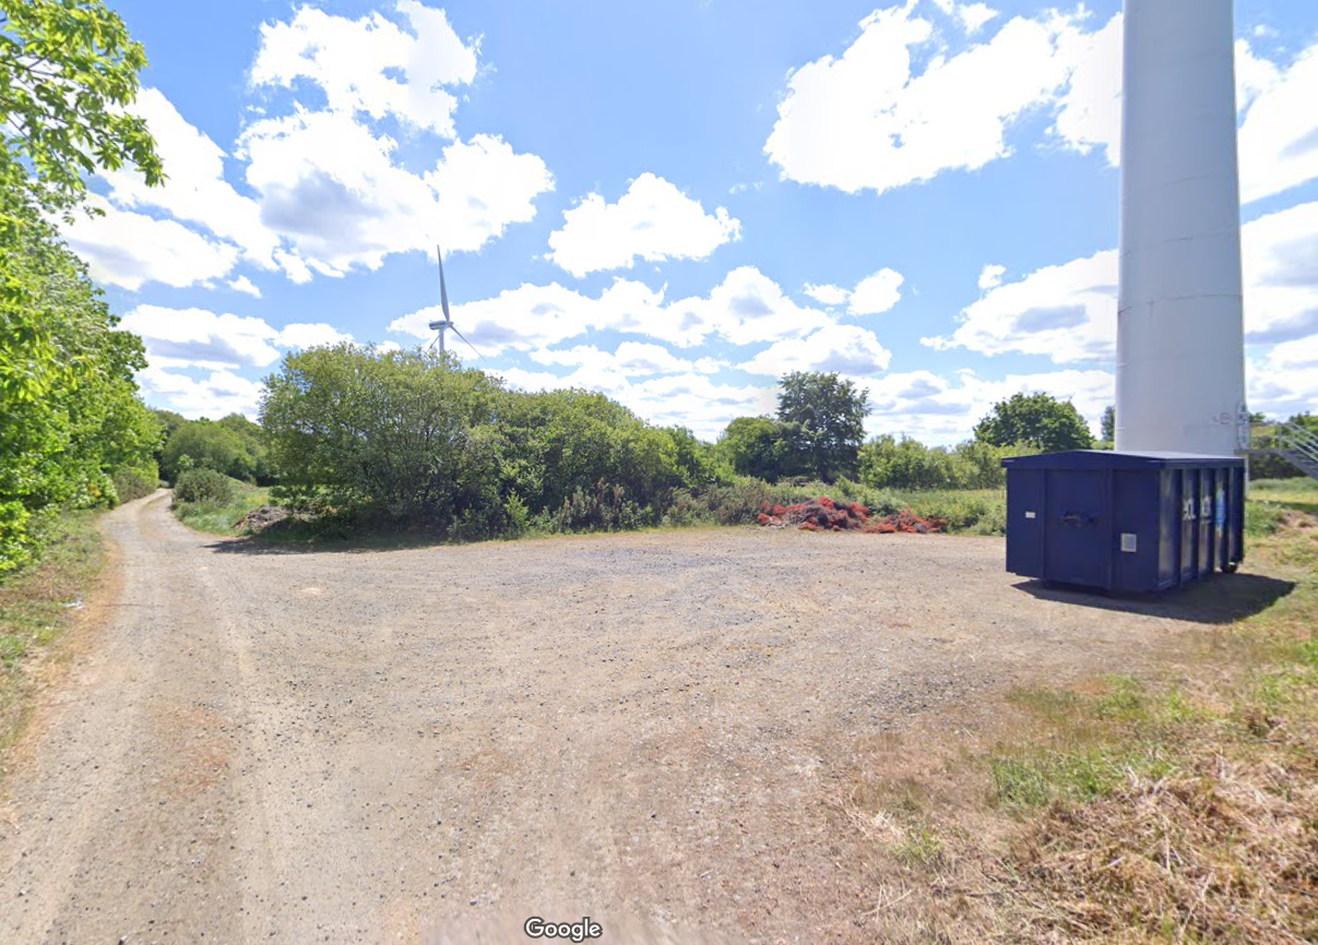
<instances>
[{"instance_id":1,"label":"large rounded green bush mass in front of the distant wind turbine","mask_svg":"<svg viewBox=\"0 0 1318 945\"><path fill-rule=\"evenodd\" d=\"M634 527L675 492L729 478L689 430L651 427L604 394L509 391L419 351L290 355L261 415L281 501L459 538Z\"/></svg>"}]
</instances>

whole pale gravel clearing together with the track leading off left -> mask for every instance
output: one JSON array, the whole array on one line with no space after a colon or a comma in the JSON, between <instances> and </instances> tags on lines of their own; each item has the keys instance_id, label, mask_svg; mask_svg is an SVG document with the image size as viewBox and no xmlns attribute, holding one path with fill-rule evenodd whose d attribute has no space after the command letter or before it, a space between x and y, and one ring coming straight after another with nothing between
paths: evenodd
<instances>
[{"instance_id":1,"label":"whole pale gravel clearing together with the track leading off left","mask_svg":"<svg viewBox=\"0 0 1318 945\"><path fill-rule=\"evenodd\" d=\"M854 745L1191 626L1031 593L998 539L253 554L167 506L105 519L117 600L5 786L3 940L863 941L821 809Z\"/></svg>"}]
</instances>

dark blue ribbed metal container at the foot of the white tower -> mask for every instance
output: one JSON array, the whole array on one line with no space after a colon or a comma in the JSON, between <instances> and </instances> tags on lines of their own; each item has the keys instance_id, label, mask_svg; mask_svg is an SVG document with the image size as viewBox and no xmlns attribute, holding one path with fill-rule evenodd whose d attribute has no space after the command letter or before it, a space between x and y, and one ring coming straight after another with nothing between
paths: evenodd
<instances>
[{"instance_id":1,"label":"dark blue ribbed metal container at the foot of the white tower","mask_svg":"<svg viewBox=\"0 0 1318 945\"><path fill-rule=\"evenodd\" d=\"M1244 460L1073 449L1002 461L1007 571L1166 590L1244 559Z\"/></svg>"}]
</instances>

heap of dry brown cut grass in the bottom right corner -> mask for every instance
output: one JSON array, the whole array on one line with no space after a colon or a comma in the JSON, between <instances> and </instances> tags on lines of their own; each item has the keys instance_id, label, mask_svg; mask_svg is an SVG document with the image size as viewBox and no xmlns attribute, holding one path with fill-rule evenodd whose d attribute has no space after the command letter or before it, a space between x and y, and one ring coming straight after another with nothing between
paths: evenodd
<instances>
[{"instance_id":1,"label":"heap of dry brown cut grass in the bottom right corner","mask_svg":"<svg viewBox=\"0 0 1318 945\"><path fill-rule=\"evenodd\" d=\"M1318 941L1315 735L1292 733L1249 760L1193 746L1181 776L1132 776L1102 800L1048 809L1012 857L1040 903L1031 928L1073 940Z\"/></svg>"}]
</instances>

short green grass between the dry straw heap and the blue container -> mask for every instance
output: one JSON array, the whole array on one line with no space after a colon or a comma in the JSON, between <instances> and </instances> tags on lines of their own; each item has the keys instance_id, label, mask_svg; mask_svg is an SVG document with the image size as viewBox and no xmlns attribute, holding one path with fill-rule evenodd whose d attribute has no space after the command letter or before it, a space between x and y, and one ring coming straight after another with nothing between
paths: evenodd
<instances>
[{"instance_id":1,"label":"short green grass between the dry straw heap and the blue container","mask_svg":"<svg viewBox=\"0 0 1318 945\"><path fill-rule=\"evenodd\" d=\"M1268 737L1276 720L1318 717L1318 522L1305 518L1318 482L1251 484L1246 507L1249 559L1296 583L1267 610L1215 639L1206 664L1219 668L1198 688L1132 675L1102 676L1083 687L1029 687L1008 693L1041 731L1031 743L988 757L994 799L1006 807L1087 801L1111 793L1132 774L1160 776L1188 763L1205 742L1231 751ZM1301 513L1288 518L1288 513ZM1207 693L1207 695L1205 695ZM1318 749L1318 745L1307 750ZM1178 760L1180 759L1180 760Z\"/></svg>"}]
</instances>

